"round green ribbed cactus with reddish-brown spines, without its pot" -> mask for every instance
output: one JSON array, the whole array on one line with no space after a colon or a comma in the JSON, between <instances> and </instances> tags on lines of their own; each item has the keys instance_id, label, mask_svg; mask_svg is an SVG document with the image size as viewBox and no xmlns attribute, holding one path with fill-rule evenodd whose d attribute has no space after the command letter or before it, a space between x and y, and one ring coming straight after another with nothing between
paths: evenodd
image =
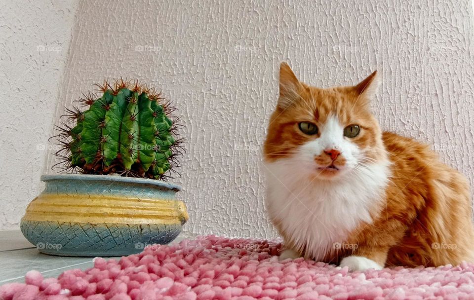
<instances>
[{"instance_id":1,"label":"round green ribbed cactus with reddish-brown spines, without its pot","mask_svg":"<svg viewBox=\"0 0 474 300\"><path fill-rule=\"evenodd\" d=\"M165 173L174 171L182 150L177 119L171 114L174 108L138 82L132 86L120 80L115 88L107 82L99 87L102 97L94 99L89 93L79 100L88 110L66 110L64 116L72 125L56 127L62 146L56 165L82 174L169 177Z\"/></svg>"}]
</instances>

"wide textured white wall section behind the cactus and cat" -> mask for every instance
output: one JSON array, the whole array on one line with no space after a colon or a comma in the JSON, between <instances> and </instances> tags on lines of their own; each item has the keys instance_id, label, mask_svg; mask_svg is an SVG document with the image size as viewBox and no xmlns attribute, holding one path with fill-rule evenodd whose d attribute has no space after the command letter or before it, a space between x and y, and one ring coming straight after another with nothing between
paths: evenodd
<instances>
[{"instance_id":1,"label":"wide textured white wall section behind the cactus and cat","mask_svg":"<svg viewBox=\"0 0 474 300\"><path fill-rule=\"evenodd\" d=\"M320 86L378 69L381 125L434 144L473 184L471 0L393 2L82 2L61 101L120 76L173 100L189 141L175 181L185 188L188 232L275 235L260 148L281 60Z\"/></svg>"}]
</instances>

